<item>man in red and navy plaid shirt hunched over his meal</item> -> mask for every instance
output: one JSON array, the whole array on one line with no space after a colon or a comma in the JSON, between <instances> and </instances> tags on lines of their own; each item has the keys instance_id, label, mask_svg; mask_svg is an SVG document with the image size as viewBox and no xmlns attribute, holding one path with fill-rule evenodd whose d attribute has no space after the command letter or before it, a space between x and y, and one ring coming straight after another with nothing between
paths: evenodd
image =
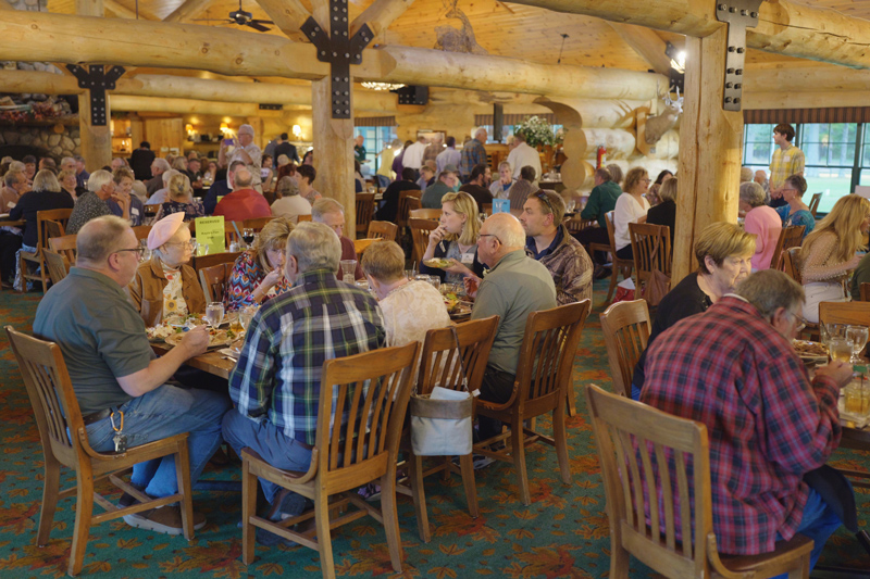
<instances>
[{"instance_id":1,"label":"man in red and navy plaid shirt hunched over his meal","mask_svg":"<svg viewBox=\"0 0 870 579\"><path fill-rule=\"evenodd\" d=\"M799 532L815 541L812 568L841 521L803 478L840 443L836 404L852 366L833 362L809 381L792 348L803 303L782 272L750 275L650 345L641 402L707 425L720 552L769 553Z\"/></svg>"}]
</instances>

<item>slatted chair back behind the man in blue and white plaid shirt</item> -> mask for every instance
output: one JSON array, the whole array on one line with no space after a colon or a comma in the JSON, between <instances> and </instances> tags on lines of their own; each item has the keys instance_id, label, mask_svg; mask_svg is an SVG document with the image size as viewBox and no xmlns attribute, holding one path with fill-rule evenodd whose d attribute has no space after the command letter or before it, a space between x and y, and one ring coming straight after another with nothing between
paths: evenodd
<instances>
[{"instance_id":1,"label":"slatted chair back behind the man in blue and white plaid shirt","mask_svg":"<svg viewBox=\"0 0 870 579\"><path fill-rule=\"evenodd\" d=\"M372 461L386 468L387 453L398 449L419 351L412 342L323 364L316 439L323 476L352 479L340 471Z\"/></svg>"}]
</instances>

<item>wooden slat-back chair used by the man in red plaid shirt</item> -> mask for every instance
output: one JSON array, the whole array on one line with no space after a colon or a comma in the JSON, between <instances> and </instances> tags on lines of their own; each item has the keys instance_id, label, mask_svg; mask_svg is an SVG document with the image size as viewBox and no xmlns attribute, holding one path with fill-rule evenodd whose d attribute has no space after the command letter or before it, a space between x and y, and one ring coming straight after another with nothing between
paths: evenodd
<instances>
[{"instance_id":1,"label":"wooden slat-back chair used by the man in red plaid shirt","mask_svg":"<svg viewBox=\"0 0 870 579\"><path fill-rule=\"evenodd\" d=\"M812 541L803 534L776 543L772 553L720 556L713 532L710 451L703 424L594 385L586 387L586 402L610 519L611 579L629 577L630 554L666 577L746 579L782 572L809 577ZM655 456L650 456L651 448ZM654 461L660 467L658 476L648 477ZM661 468L669 464L673 468ZM649 495L661 496L661 502L650 501ZM680 513L682 543L675 520Z\"/></svg>"}]
</instances>

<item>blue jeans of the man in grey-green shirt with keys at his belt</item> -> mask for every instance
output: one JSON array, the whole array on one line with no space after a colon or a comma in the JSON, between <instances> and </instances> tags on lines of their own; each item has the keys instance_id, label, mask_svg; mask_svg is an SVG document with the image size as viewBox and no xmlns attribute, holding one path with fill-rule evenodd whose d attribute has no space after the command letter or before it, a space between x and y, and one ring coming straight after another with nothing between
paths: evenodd
<instances>
[{"instance_id":1,"label":"blue jeans of the man in grey-green shirt with keys at his belt","mask_svg":"<svg viewBox=\"0 0 870 579\"><path fill-rule=\"evenodd\" d=\"M195 483L211 455L221 445L221 417L231 407L226 395L207 390L160 386L121 405L127 448L138 446L182 432L189 432L190 482ZM117 417L115 418L117 425ZM87 426L88 441L98 452L114 450L111 419ZM130 482L153 498L178 492L175 457L164 456L133 467Z\"/></svg>"}]
</instances>

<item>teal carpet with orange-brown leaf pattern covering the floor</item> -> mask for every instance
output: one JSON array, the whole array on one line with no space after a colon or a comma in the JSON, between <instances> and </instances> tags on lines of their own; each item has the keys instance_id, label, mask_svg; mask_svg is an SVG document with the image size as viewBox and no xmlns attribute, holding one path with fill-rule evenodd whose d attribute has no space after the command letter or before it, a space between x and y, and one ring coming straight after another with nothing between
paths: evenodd
<instances>
[{"instance_id":1,"label":"teal carpet with orange-brown leaf pattern covering the floor","mask_svg":"<svg viewBox=\"0 0 870 579\"><path fill-rule=\"evenodd\" d=\"M595 302L605 297L604 281L596 284ZM0 293L0 322L30 329L39 293ZM609 385L609 370L598 314L595 307L576 354L574 388L580 414L569 419L572 482L558 476L556 454L537 445L529 453L533 504L523 506L515 477L507 465L495 464L477 473L481 517L471 519L458 477L448 482L427 480L427 503L433 527L432 542L421 543L410 500L400 499L399 523L405 545L403 572L389 564L386 539L371 518L333 533L337 572L343 577L465 578L492 575L510 578L598 578L609 574L609 530L605 498L592 431L585 418L581 387L588 382ZM59 504L48 546L34 545L39 517L42 463L38 432L9 349L0 336L0 578L62 577L65 575L75 501ZM545 426L546 428L546 426ZM867 470L870 455L838 451L835 465ZM204 478L238 478L236 466L207 470ZM70 483L71 477L64 477ZM236 527L241 507L238 494L198 492L196 506L209 523L187 543L110 521L90 531L85 568L88 577L105 578L226 578L319 577L318 554L304 547L258 546L257 561L246 567L241 554L241 530ZM858 494L859 523L868 528L870 498ZM849 534L841 530L828 543L822 563L867 565ZM632 561L632 577L654 574Z\"/></svg>"}]
</instances>

